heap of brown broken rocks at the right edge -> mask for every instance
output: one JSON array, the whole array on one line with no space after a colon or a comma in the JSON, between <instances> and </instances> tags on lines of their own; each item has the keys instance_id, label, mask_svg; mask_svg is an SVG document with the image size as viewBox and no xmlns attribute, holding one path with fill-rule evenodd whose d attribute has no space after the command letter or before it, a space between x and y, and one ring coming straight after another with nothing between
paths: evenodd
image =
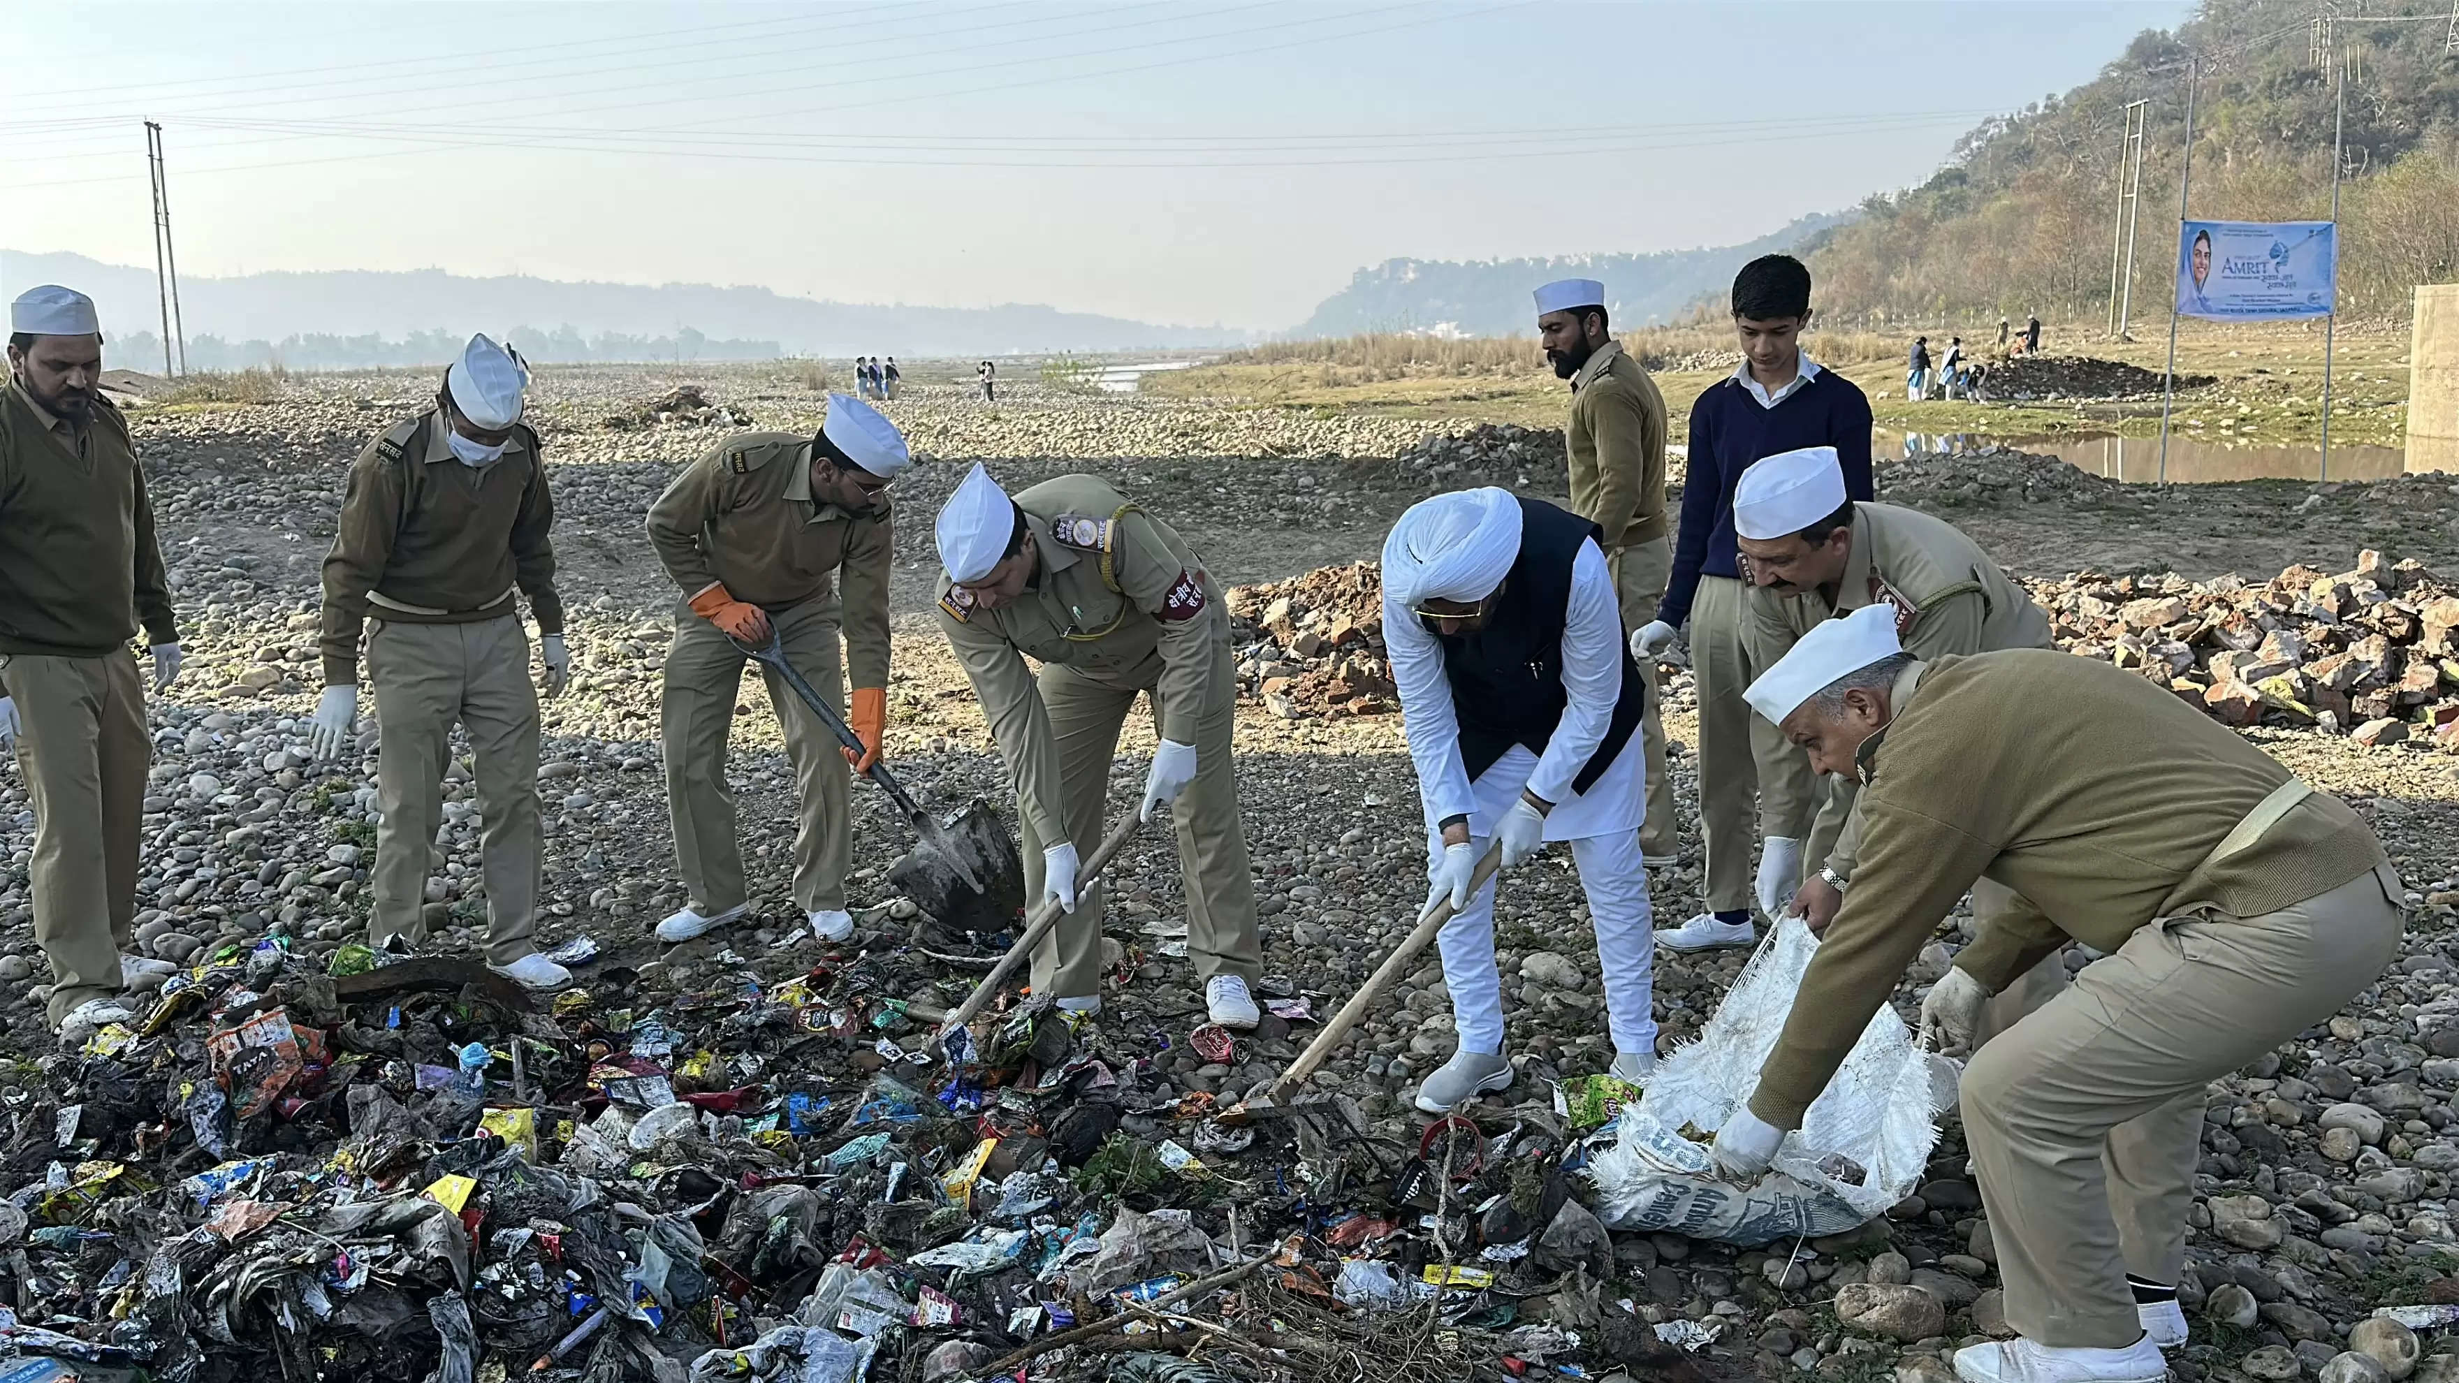
<instances>
[{"instance_id":1,"label":"heap of brown broken rocks at the right edge","mask_svg":"<svg viewBox=\"0 0 2459 1383\"><path fill-rule=\"evenodd\" d=\"M2230 726L2459 748L2459 588L2361 551L2260 586L2070 576L2031 586L2070 652L2139 669Z\"/></svg>"}]
</instances>

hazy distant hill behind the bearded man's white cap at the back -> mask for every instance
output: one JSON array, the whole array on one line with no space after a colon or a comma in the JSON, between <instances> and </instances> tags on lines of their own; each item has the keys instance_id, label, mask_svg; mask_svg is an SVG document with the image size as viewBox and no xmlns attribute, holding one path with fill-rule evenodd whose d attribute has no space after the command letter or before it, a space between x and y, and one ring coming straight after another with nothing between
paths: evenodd
<instances>
[{"instance_id":1,"label":"hazy distant hill behind the bearded man's white cap at the back","mask_svg":"<svg viewBox=\"0 0 2459 1383\"><path fill-rule=\"evenodd\" d=\"M1739 246L1677 249L1657 253L1579 253L1561 258L1387 258L1360 268L1350 285L1325 298L1316 315L1289 335L1348 337L1357 332L1436 332L1507 337L1534 330L1529 290L1554 278L1596 278L1613 298L1613 325L1645 327L1684 315L1702 298L1734 285L1743 263L1795 249L1844 217L1802 217L1790 226Z\"/></svg>"}]
</instances>

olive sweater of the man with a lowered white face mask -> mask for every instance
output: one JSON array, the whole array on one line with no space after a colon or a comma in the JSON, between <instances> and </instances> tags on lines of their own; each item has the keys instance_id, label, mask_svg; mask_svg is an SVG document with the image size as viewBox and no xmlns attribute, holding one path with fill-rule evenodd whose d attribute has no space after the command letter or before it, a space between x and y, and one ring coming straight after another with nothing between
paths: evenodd
<instances>
[{"instance_id":1,"label":"olive sweater of the man with a lowered white face mask","mask_svg":"<svg viewBox=\"0 0 2459 1383\"><path fill-rule=\"evenodd\" d=\"M428 421L428 445L408 455ZM359 682L359 630L369 605L406 625L467 625L516 613L529 596L541 635L563 632L556 502L546 465L516 431L504 455L462 465L435 409L384 431L349 465L342 522L325 554L325 684Z\"/></svg>"}]
</instances>

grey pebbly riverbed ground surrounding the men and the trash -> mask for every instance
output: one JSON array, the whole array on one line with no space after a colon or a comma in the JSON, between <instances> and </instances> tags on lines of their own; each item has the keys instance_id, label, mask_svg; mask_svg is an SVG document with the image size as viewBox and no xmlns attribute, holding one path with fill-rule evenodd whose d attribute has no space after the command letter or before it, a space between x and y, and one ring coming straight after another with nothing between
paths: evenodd
<instances>
[{"instance_id":1,"label":"grey pebbly riverbed ground surrounding the men and the trash","mask_svg":"<svg viewBox=\"0 0 2459 1383\"><path fill-rule=\"evenodd\" d=\"M649 554L642 512L676 465L713 445L723 428L639 423L639 411L686 381L760 428L807 431L819 416L814 394L765 369L689 377L590 369L546 372L539 381L534 418L553 465L558 583L575 660L573 687L546 711L543 940L593 938L607 962L622 967L620 994L607 992L602 1002L637 1009L740 984L735 977L745 972L775 987L814 967L843 970L858 965L856 952L890 957L905 967L900 974L920 974L902 997L961 997L974 972L937 967L932 974L932 965L902 950L910 906L898 906L885 866L905 849L907 829L868 787L856 787L856 943L831 955L802 933L787 888L792 775L755 679L743 687L730 763L755 915L681 947L644 938L681 903L681 891L657 743L659 667L676 591ZM317 561L332 536L349 458L428 389L428 379L403 374L293 379L290 396L278 404L138 413L189 647L180 687L150 711L155 768L138 950L189 962L219 947L288 938L295 957L322 967L361 938L374 847L374 736L369 728L361 755L347 763L315 763L307 753L305 719L317 694ZM1485 431L1429 443L1416 423L1107 399L1035 384L1003 386L996 409L961 389L912 389L888 411L917 450L930 453L895 487L900 615L888 751L917 797L949 807L974 795L1001 802L1003 780L981 714L925 613L934 576L930 517L971 460L986 460L1011 487L1070 470L1111 477L1178 524L1234 583L1286 581L1372 556L1392 517L1439 487L1500 482L1537 495L1561 487L1561 443L1544 433ZM607 428L610 416L632 423ZM2289 564L2351 571L2361 546L2415 559L2427 571L2459 571L2452 524L2459 497L2447 480L2157 492L2011 455L1879 470L1881 497L1965 524L2021 576L2068 578L2095 568L2093 581L2107 581L2110 573L2174 568L2208 581L2240 571L2255 586ZM2380 536L2383 529L2393 536ZM2230 559L2243 561L2213 566ZM2415 586L2415 578L2402 581ZM2066 591L2080 588L2100 591L2090 581ZM2127 596L2134 598L2134 588ZM1239 613L1264 618L1261 608ZM1682 674L1670 682L1667 728L1677 746L1692 741ZM2452 1127L2459 1100L2459 952L2452 950L2459 758L2434 751L2429 733L2405 743L2275 726L2245 733L2316 787L2356 802L2375 824L2410 888L2410 933L2383 982L2343 1014L2213 1085L2184 1285L2193 1344L2174 1366L2189 1381L2459 1381L2459 1341L2432 1331L2420 1341L2402 1326L2368 1324L2385 1304L2459 1302L2459 1240L2452 1235L2459 1201L2459 1130ZM1399 719L1289 719L1254 699L1239 706L1237 736L1274 974L1269 989L1306 999L1320 1016L1407 933L1424 896L1424 829ZM1114 773L1116 807L1134 805L1151 748L1151 723L1131 716ZM1677 748L1672 770L1682 802L1694 800L1694 763ZM452 802L428 908L438 950L475 955L484 925L482 822L467 760L455 758L448 778ZM66 1080L74 1068L69 1058L44 1056L52 1051L39 1002L47 974L32 943L25 883L32 815L15 773L0 778L0 847L10 851L0 874L0 1024L7 1043L30 1058L0 1075L0 1098L15 1105L17 1095L39 1095L44 1083ZM1234 1098L1296 1056L1313 1031L1306 1021L1296 1029L1269 1024L1227 1056L1190 1041L1202 1002L1178 957L1183 896L1163 832L1134 839L1111 866L1111 881L1114 967L1097 1026L1114 1061L1141 1066L1143 1090ZM1699 886L1697 834L1684 829L1682 864L1655 879L1660 918L1689 915ZM1962 925L1945 928L1940 940L1957 945ZM1473 1115L1488 1132L1522 1122L1559 1134L1547 1083L1596 1073L1613 1056L1598 1021L1603 999L1584 898L1559 851L1510 879L1498 908L1498 945L1520 1080ZM1945 955L1935 947L1898 989L1908 1014ZM2080 950L2068 955L2070 967L2085 962ZM1657 1006L1667 1043L1697 1034L1739 965L1741 955L1660 957ZM1316 1085L1355 1102L1367 1142L1407 1154L1419 1147L1424 1120L1404 1095L1451 1043L1441 970L1429 957ZM856 1058L875 1068L870 1051L868 1038L831 1038L802 1061L811 1063L814 1080L858 1088L868 1070ZM170 1061L177 1066L177 1056ZM39 1139L34 1152L42 1152ZM42 1176L42 1157L17 1157L10 1166L20 1181ZM1249 1166L1247 1176L1271 1171ZM1345 1203L1362 1206L1375 1194L1352 1186ZM1222 1206L1207 1201L1202 1216L1230 1243L1239 1230L1234 1221L1222 1228L1220 1213ZM907 1238L898 1250L905 1248L922 1243ZM1628 1299L1648 1324L1702 1321L1716 1341L1694 1356L1702 1366L1768 1378L1815 1371L1861 1381L1893 1371L1901 1383L1938 1383L1952 1346L2004 1331L1989 1226L1952 1125L1923 1186L1891 1216L1854 1235L1805 1243L1790 1257L1785 1248L1736 1253L1675 1235L1616 1235L1603 1302L1613 1312L1613 1302ZM1911 1297L1896 1302L1901 1312L1874 1314L1869 1289L1839 1302L1839 1289L1857 1282ZM1586 1346L1557 1351L1557 1358L1584 1361L1589 1376L1613 1371L1616 1356L1598 1344L1613 1329L1598 1321L1591 1277L1564 1272L1557 1280L1552 1270L1525 1267L1512 1285L1520 1326L1559 1324L1586 1334ZM1006 1336L993 1321L984 1339ZM1493 1363L1500 1353L1461 1363L1458 1376L1502 1378ZM1532 1353L1527 1339L1520 1353ZM1542 1358L1544 1349L1534 1353Z\"/></svg>"}]
</instances>

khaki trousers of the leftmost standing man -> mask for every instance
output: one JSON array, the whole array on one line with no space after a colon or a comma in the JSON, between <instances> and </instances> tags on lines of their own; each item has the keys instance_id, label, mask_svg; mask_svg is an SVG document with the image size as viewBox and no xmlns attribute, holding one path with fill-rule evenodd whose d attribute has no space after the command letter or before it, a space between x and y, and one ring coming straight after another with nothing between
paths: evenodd
<instances>
[{"instance_id":1,"label":"khaki trousers of the leftmost standing man","mask_svg":"<svg viewBox=\"0 0 2459 1383\"><path fill-rule=\"evenodd\" d=\"M52 962L52 1026L120 992L138 908L145 812L145 684L128 652L0 657L17 699L17 773L34 805L34 943Z\"/></svg>"}]
</instances>

